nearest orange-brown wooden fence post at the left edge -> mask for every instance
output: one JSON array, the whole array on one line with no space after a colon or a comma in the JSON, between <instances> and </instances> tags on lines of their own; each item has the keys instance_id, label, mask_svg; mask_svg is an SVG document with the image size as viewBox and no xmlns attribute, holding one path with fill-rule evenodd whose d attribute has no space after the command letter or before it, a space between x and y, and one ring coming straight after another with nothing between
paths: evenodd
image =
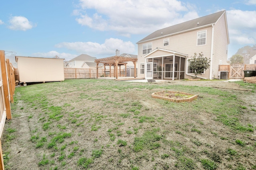
<instances>
[{"instance_id":1,"label":"nearest orange-brown wooden fence post at the left edge","mask_svg":"<svg viewBox=\"0 0 256 170\"><path fill-rule=\"evenodd\" d=\"M7 72L6 72L6 62L5 62L5 54L4 51L0 51L0 63L2 70L2 80L3 80L3 88L4 88L4 102L6 108L6 118L12 119L12 111L9 99L9 90L8 90L8 81L7 81Z\"/></svg>"}]
</instances>

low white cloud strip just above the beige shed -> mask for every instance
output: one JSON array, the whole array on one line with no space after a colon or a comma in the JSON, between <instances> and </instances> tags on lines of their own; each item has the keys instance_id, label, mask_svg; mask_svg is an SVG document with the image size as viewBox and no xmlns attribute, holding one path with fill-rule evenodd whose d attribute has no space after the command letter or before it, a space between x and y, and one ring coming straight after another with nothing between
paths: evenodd
<instances>
[{"instance_id":1,"label":"low white cloud strip just above the beige shed","mask_svg":"<svg viewBox=\"0 0 256 170\"><path fill-rule=\"evenodd\" d=\"M53 58L54 56L58 56L61 59L65 59L66 61L69 61L75 57L77 57L78 55L74 55L74 54L68 54L68 53L58 53L57 51L49 51L47 53L33 53L32 54L35 57L45 57L45 58Z\"/></svg>"}]
</instances>

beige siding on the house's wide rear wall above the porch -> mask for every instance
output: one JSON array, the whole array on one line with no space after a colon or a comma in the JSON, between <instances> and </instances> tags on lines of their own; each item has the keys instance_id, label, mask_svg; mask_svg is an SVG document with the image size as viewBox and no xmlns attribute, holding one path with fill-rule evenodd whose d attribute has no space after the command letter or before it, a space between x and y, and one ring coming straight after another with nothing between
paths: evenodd
<instances>
[{"instance_id":1,"label":"beige siding on the house's wide rear wall above the porch","mask_svg":"<svg viewBox=\"0 0 256 170\"><path fill-rule=\"evenodd\" d=\"M197 45L197 33L198 31L206 30L206 45ZM164 39L169 38L169 45L164 46ZM188 31L185 33L180 33L178 35L172 35L168 37L163 37L161 39L156 39L153 41L147 41L144 43L138 44L138 66L140 67L140 63L145 62L144 55L142 55L142 45L145 43L152 43L152 50L158 48L167 49L171 51L176 51L179 53L187 54L188 58L194 56L194 53L203 52L205 57L210 58L211 54L211 42L212 42L212 26L196 29L193 31ZM160 53L160 52L159 52ZM159 57L162 57L162 54L159 54ZM150 55L151 56L151 55ZM155 54L154 54L155 56ZM139 68L140 70L140 68ZM138 70L138 72L139 72ZM200 76L204 78L209 78L210 71L206 70L205 74ZM140 77L144 77L144 75L138 74ZM190 78L190 76L185 76L185 78Z\"/></svg>"}]
</instances>

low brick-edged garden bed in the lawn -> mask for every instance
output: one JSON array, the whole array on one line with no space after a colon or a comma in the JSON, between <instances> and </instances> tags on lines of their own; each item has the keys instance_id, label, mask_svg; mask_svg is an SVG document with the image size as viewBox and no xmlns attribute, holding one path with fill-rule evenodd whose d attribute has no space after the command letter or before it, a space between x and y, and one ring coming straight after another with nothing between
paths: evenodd
<instances>
[{"instance_id":1,"label":"low brick-edged garden bed in the lawn","mask_svg":"<svg viewBox=\"0 0 256 170\"><path fill-rule=\"evenodd\" d=\"M152 93L153 98L170 100L171 102L191 102L198 97L197 94L190 94L185 92L174 92L163 90L161 92Z\"/></svg>"}]
</instances>

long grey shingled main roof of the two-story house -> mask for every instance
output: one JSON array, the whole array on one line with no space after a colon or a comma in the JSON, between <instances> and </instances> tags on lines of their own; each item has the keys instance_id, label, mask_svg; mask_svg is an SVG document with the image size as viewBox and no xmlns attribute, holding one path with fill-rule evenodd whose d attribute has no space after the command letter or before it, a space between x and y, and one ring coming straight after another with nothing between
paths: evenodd
<instances>
[{"instance_id":1,"label":"long grey shingled main roof of the two-story house","mask_svg":"<svg viewBox=\"0 0 256 170\"><path fill-rule=\"evenodd\" d=\"M145 42L145 41L157 39L157 38L166 37L168 35L174 35L177 33L189 31L192 29L199 29L202 27L210 26L210 25L216 23L224 13L226 13L225 10L214 13L214 14L210 14L208 16L196 18L194 20L179 23L177 25L172 25L170 27L159 29L159 30L151 33L147 37L143 38L142 40L138 41L137 44Z\"/></svg>"}]
</instances>

